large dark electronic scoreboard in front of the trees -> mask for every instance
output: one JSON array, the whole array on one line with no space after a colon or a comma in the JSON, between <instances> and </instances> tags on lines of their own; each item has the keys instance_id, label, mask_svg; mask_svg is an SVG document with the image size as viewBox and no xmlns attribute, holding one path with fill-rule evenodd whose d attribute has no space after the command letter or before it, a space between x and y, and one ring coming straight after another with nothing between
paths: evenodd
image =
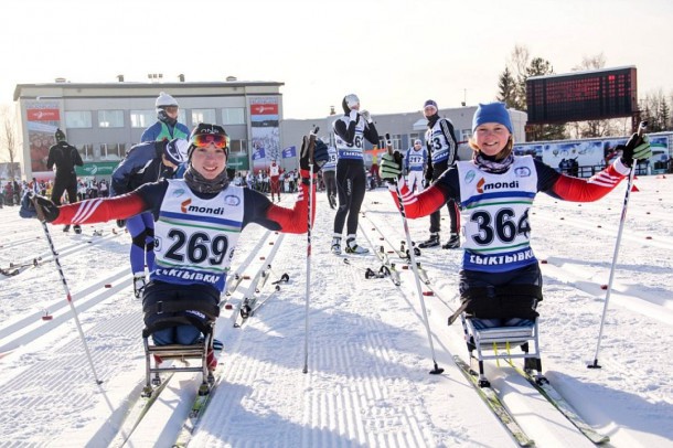
<instances>
[{"instance_id":1,"label":"large dark electronic scoreboard in front of the trees","mask_svg":"<svg viewBox=\"0 0 673 448\"><path fill-rule=\"evenodd\" d=\"M528 125L632 116L638 110L635 67L526 79Z\"/></svg>"}]
</instances>

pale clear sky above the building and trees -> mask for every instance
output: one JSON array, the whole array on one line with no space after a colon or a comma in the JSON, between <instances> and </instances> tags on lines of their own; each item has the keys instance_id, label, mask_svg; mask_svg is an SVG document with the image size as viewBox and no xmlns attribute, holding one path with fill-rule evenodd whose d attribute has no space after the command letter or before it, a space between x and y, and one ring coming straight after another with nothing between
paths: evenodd
<instances>
[{"instance_id":1,"label":"pale clear sky above the building and trees","mask_svg":"<svg viewBox=\"0 0 673 448\"><path fill-rule=\"evenodd\" d=\"M285 118L495 98L515 45L569 72L602 53L639 96L673 93L672 0L6 0L0 103L21 83L282 82ZM160 87L157 88L160 90Z\"/></svg>"}]
</instances>

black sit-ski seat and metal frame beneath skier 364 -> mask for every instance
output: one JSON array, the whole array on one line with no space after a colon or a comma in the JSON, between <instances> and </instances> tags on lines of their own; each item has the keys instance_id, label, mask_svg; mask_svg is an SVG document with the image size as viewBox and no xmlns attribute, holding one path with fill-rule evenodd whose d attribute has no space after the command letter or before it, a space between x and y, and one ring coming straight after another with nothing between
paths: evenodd
<instances>
[{"instance_id":1,"label":"black sit-ski seat and metal frame beneath skier 364","mask_svg":"<svg viewBox=\"0 0 673 448\"><path fill-rule=\"evenodd\" d=\"M479 385L490 386L484 375L487 360L523 359L523 369L542 378L537 317L542 288L512 285L471 288L449 324L460 317L470 355L470 366L479 374ZM535 373L533 373L535 371Z\"/></svg>"}]
</instances>

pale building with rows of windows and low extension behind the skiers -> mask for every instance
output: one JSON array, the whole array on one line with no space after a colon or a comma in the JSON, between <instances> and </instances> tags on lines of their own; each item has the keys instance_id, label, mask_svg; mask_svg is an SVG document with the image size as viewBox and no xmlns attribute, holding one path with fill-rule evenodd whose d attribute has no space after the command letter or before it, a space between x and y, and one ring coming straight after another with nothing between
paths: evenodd
<instances>
[{"instance_id":1,"label":"pale building with rows of windows and low extension behind the skiers","mask_svg":"<svg viewBox=\"0 0 673 448\"><path fill-rule=\"evenodd\" d=\"M125 82L19 84L14 102L19 115L18 141L23 179L50 179L46 169L49 148L54 145L57 128L65 131L85 162L81 177L109 177L132 145L140 142L142 131L157 121L154 100L160 92L173 96L180 106L179 121L193 128L199 122L224 126L231 137L229 168L241 171L268 169L279 160L285 169L297 167L302 136L313 126L328 137L338 117L282 119L282 94L279 82ZM341 103L341 98L334 98ZM439 109L456 128L456 138L466 141L471 135L476 106ZM380 134L391 135L396 149L405 150L416 138L424 139L426 120L420 110L406 114L376 114ZM525 141L526 114L510 110L515 141ZM291 147L295 147L293 150ZM284 151L286 150L287 151ZM371 149L371 148L370 148ZM295 154L295 156L292 156ZM462 159L470 154L461 146ZM371 159L368 159L371 162Z\"/></svg>"}]
</instances>

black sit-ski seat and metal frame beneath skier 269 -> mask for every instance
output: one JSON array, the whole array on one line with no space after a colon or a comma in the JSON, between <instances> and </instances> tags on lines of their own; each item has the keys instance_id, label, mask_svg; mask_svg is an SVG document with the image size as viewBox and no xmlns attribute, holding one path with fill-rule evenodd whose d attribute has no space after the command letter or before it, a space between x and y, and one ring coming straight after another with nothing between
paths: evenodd
<instances>
[{"instance_id":1,"label":"black sit-ski seat and metal frame beneath skier 269","mask_svg":"<svg viewBox=\"0 0 673 448\"><path fill-rule=\"evenodd\" d=\"M214 376L209 370L207 355L213 351L215 320L220 316L220 307L209 300L174 300L145 305L143 311L146 323L142 330L146 362L143 396L150 396L153 392L152 386L161 384L159 374L162 372L201 372L202 383L199 394L206 395L214 382ZM156 331L184 324L196 327L203 334L203 342L200 341L192 345L150 343L149 338ZM161 363L156 361L156 356L161 360ZM170 365L161 366L163 361L168 360L180 361L182 365L170 363ZM200 362L191 365L189 360ZM152 362L154 366L152 366Z\"/></svg>"}]
</instances>

